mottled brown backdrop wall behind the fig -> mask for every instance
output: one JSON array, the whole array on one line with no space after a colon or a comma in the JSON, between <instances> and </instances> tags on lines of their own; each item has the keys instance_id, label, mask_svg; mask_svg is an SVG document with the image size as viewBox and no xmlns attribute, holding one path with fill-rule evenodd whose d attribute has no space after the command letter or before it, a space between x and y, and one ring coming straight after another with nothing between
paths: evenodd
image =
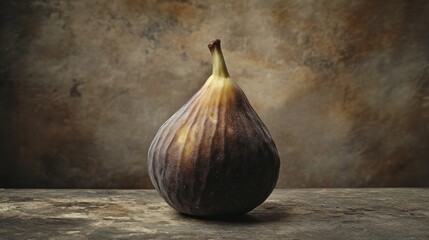
<instances>
[{"instance_id":1,"label":"mottled brown backdrop wall behind the fig","mask_svg":"<svg viewBox=\"0 0 429 240\"><path fill-rule=\"evenodd\" d=\"M2 1L0 187L151 187L149 143L213 38L278 187L429 186L428 3Z\"/></svg>"}]
</instances>

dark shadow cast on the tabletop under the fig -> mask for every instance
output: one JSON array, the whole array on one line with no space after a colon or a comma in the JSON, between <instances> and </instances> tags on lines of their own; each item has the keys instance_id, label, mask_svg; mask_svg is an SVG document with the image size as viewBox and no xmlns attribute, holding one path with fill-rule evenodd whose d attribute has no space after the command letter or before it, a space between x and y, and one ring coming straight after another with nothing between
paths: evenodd
<instances>
[{"instance_id":1,"label":"dark shadow cast on the tabletop under the fig","mask_svg":"<svg viewBox=\"0 0 429 240\"><path fill-rule=\"evenodd\" d=\"M234 223L234 224L258 224L267 222L276 222L284 220L288 217L287 208L278 202L265 202L254 210L243 215L227 215L227 216L192 216L179 213L181 216L204 220L208 222L218 223Z\"/></svg>"}]
</instances>

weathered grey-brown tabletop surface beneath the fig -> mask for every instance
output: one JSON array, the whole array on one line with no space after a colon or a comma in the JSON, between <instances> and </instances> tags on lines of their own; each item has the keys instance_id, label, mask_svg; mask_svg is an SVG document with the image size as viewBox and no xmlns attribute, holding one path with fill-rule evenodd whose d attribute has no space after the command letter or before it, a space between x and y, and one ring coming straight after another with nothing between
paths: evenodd
<instances>
[{"instance_id":1,"label":"weathered grey-brown tabletop surface beneath the fig","mask_svg":"<svg viewBox=\"0 0 429 240\"><path fill-rule=\"evenodd\" d=\"M0 239L429 239L429 189L288 189L195 219L154 190L0 190Z\"/></svg>"}]
</instances>

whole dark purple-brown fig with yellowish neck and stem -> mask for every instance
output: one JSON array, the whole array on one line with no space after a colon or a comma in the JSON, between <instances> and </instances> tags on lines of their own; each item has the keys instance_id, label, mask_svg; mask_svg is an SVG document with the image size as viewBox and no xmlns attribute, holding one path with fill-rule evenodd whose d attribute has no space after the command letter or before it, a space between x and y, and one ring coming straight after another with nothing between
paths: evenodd
<instances>
[{"instance_id":1,"label":"whole dark purple-brown fig with yellowish neck and stem","mask_svg":"<svg viewBox=\"0 0 429 240\"><path fill-rule=\"evenodd\" d=\"M180 213L245 214L273 191L279 155L268 129L230 78L220 40L208 47L212 75L158 130L148 152L148 173Z\"/></svg>"}]
</instances>

